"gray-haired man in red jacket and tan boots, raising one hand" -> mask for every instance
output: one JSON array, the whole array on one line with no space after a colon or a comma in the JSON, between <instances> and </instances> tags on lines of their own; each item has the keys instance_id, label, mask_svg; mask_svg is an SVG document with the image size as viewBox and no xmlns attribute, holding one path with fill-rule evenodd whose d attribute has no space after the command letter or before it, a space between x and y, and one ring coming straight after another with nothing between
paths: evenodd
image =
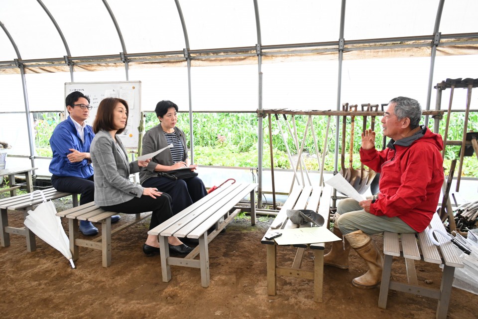
<instances>
[{"instance_id":1,"label":"gray-haired man in red jacket and tan boots, raising one hand","mask_svg":"<svg viewBox=\"0 0 478 319\"><path fill-rule=\"evenodd\" d=\"M415 233L432 220L444 180L442 137L420 126L422 110L418 101L392 99L381 120L383 134L391 140L383 151L375 149L375 132L362 133L360 160L380 172L380 192L363 201L341 200L337 206L334 233L342 242L333 242L324 264L349 268L349 251L354 248L369 270L355 278L359 288L380 284L383 259L369 235L384 231Z\"/></svg>"}]
</instances>

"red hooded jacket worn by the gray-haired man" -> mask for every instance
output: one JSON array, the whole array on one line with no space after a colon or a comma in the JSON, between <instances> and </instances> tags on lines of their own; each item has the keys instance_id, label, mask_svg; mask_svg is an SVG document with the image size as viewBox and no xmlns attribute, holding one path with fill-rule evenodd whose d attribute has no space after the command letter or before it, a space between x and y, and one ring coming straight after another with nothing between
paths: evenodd
<instances>
[{"instance_id":1,"label":"red hooded jacket worn by the gray-haired man","mask_svg":"<svg viewBox=\"0 0 478 319\"><path fill-rule=\"evenodd\" d=\"M360 149L362 163L380 172L380 192L370 213L398 216L417 232L430 224L444 180L442 137L422 128L405 142L391 140L383 151Z\"/></svg>"}]
</instances>

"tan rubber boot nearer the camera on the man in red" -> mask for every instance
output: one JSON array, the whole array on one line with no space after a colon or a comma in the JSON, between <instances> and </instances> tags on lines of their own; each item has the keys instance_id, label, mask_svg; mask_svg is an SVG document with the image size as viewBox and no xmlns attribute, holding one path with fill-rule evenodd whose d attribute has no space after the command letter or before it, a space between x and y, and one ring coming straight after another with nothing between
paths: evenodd
<instances>
[{"instance_id":1,"label":"tan rubber boot nearer the camera on the man in red","mask_svg":"<svg viewBox=\"0 0 478 319\"><path fill-rule=\"evenodd\" d=\"M352 280L352 284L359 288L375 288L382 280L383 258L378 251L377 245L361 230L344 235L350 246L362 257L368 266L368 271Z\"/></svg>"}]
</instances>

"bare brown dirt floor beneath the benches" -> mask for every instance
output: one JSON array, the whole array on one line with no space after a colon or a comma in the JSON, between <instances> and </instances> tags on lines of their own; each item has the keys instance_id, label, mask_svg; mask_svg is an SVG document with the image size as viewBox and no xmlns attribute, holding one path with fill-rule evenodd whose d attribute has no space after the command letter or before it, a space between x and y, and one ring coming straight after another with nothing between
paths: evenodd
<instances>
[{"instance_id":1,"label":"bare brown dirt floor beneath the benches","mask_svg":"<svg viewBox=\"0 0 478 319\"><path fill-rule=\"evenodd\" d=\"M64 200L56 200L60 210ZM9 223L22 223L20 212L9 212ZM122 221L132 218L123 215ZM101 266L101 251L80 247L76 269L58 251L37 239L37 250L26 251L24 237L10 235L10 247L0 247L0 318L435 318L437 301L390 292L387 309L379 309L379 289L352 285L366 266L352 252L350 270L325 267L324 302L313 302L309 280L279 278L277 295L267 295L266 249L260 239L271 220L250 226L249 220L233 221L209 245L211 284L201 287L199 269L172 266L169 283L161 280L159 256L147 257L141 247L149 219L112 240L112 266ZM115 227L117 227L115 225ZM68 231L66 221L64 228ZM379 247L381 237L374 236ZM329 245L326 247L328 250ZM281 247L278 258L291 264L295 249ZM312 269L307 252L303 267ZM398 259L394 278L405 278ZM430 287L440 286L437 265L417 263L417 275ZM477 318L476 295L453 288L449 318Z\"/></svg>"}]
</instances>

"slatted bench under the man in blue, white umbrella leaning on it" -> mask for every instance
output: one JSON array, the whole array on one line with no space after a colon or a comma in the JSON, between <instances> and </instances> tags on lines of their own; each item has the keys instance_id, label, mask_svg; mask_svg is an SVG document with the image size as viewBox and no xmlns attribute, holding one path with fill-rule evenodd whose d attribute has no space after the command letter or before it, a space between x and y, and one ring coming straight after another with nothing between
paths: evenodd
<instances>
[{"instance_id":1,"label":"slatted bench under the man in blue, white umbrella leaning on it","mask_svg":"<svg viewBox=\"0 0 478 319\"><path fill-rule=\"evenodd\" d=\"M43 190L43 194L47 200L58 199L66 196L73 197L73 206L78 206L78 195L72 193L65 193L56 190L55 188L47 188ZM43 202L41 194L34 193L33 199L30 199L30 194L17 195L13 197L7 197L0 199L0 239L1 246L8 247L10 246L10 235L16 234L26 237L26 250L31 252L36 249L35 234L28 229L28 227L10 227L8 226L8 210L20 210L23 211L23 220L28 215L28 211L33 209L34 205L38 205Z\"/></svg>"}]
</instances>

